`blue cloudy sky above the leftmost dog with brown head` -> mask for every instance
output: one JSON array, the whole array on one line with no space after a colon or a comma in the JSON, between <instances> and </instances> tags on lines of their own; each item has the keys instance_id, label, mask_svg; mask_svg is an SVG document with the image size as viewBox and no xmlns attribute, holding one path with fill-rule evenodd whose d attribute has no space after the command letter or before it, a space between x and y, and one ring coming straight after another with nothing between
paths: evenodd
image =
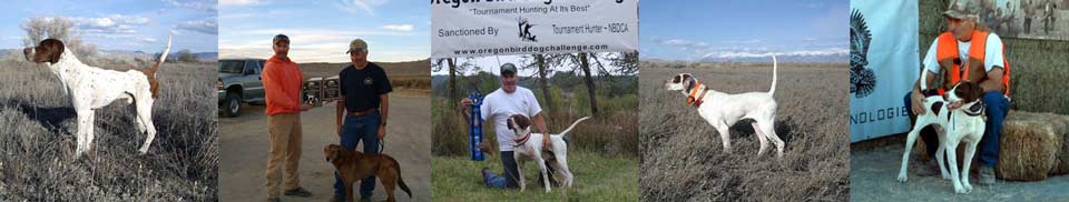
<instances>
[{"instance_id":1,"label":"blue cloudy sky above the leftmost dog with brown head","mask_svg":"<svg viewBox=\"0 0 1069 202\"><path fill-rule=\"evenodd\" d=\"M0 49L22 48L30 18L66 17L75 22L82 39L100 50L158 52L174 36L173 50L217 50L215 0L36 0L2 3Z\"/></svg>"}]
</instances>

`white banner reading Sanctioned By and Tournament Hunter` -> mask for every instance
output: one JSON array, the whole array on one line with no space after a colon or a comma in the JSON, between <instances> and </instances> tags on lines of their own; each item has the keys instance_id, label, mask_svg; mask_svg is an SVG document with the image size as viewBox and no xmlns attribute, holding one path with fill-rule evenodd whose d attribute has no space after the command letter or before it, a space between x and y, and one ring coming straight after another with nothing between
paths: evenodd
<instances>
[{"instance_id":1,"label":"white banner reading Sanctioned By and Tournament Hunter","mask_svg":"<svg viewBox=\"0 0 1069 202\"><path fill-rule=\"evenodd\" d=\"M638 0L431 1L431 57L638 50Z\"/></svg>"}]
</instances>

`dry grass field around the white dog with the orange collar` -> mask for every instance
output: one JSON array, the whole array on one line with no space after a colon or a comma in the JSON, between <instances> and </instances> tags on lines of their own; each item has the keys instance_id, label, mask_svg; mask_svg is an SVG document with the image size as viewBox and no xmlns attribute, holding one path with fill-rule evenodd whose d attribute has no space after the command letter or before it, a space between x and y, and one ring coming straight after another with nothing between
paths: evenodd
<instances>
[{"instance_id":1,"label":"dry grass field around the white dog with the orange collar","mask_svg":"<svg viewBox=\"0 0 1069 202\"><path fill-rule=\"evenodd\" d=\"M698 67L698 68L695 68ZM734 153L664 81L689 72L726 93L767 91L772 64L641 64L639 188L643 201L847 201L846 64L779 64L775 130L784 156L756 156L751 121L732 127ZM705 104L716 104L705 102ZM774 153L774 152L772 152Z\"/></svg>"}]
</instances>

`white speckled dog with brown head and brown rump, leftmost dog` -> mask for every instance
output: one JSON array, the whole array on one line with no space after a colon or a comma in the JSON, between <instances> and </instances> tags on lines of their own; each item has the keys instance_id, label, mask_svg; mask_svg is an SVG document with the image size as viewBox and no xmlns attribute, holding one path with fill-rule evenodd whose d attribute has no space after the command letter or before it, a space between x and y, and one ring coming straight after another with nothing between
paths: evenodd
<instances>
[{"instance_id":1,"label":"white speckled dog with brown head and brown rump, leftmost dog","mask_svg":"<svg viewBox=\"0 0 1069 202\"><path fill-rule=\"evenodd\" d=\"M62 41L56 39L46 39L37 47L22 50L27 60L47 64L63 83L65 92L70 95L70 104L78 113L76 158L92 147L96 110L115 101L125 101L137 108L137 118L134 119L137 131L147 134L138 151L141 154L148 152L148 147L156 138L156 127L153 125L153 103L159 91L156 71L169 52L170 37L167 38L167 47L159 55L159 61L151 68L115 71L81 63Z\"/></svg>"}]
</instances>

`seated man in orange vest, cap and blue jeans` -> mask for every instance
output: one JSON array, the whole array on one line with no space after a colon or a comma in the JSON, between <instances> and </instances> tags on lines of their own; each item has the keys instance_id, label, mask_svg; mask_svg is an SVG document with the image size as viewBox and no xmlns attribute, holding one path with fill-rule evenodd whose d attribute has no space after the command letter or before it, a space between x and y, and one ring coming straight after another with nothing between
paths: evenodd
<instances>
[{"instance_id":1,"label":"seated man in orange vest, cap and blue jeans","mask_svg":"<svg viewBox=\"0 0 1069 202\"><path fill-rule=\"evenodd\" d=\"M974 4L974 3L969 3ZM979 17L972 12L977 9L959 7L951 3L943 12L948 31L932 42L924 60L923 73L928 74L928 87L933 87L935 75L942 75L939 89L920 89L920 81L913 84L913 90L904 98L905 107L910 108L910 119L915 121L916 114L925 113L923 99L929 95L942 95L959 81L972 81L983 90L983 115L988 121L983 138L977 151L980 162L980 184L993 184L994 164L999 159L999 135L1002 132L1002 122L1009 112L1009 82L1010 65L1003 54L1004 47L998 34L988 32L980 23ZM955 109L961 103L951 103ZM979 105L979 104L978 104ZM921 138L928 148L929 156L934 159L939 140L932 128L921 131ZM921 162L926 169L919 169L919 175L935 175L939 168L934 160Z\"/></svg>"}]
</instances>

